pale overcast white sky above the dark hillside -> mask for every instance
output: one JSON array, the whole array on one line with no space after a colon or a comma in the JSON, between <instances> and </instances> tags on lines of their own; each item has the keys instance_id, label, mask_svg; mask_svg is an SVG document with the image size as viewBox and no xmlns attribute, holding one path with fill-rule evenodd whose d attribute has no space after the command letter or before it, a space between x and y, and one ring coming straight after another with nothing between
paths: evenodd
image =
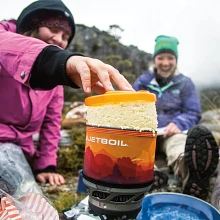
<instances>
[{"instance_id":1,"label":"pale overcast white sky above the dark hillside","mask_svg":"<svg viewBox=\"0 0 220 220\"><path fill-rule=\"evenodd\" d=\"M0 19L17 18L33 1L1 2ZM218 0L63 0L76 24L109 31L120 43L153 52L154 39L165 34L179 39L179 69L196 84L218 84L220 71L220 2ZM135 74L140 74L139 72Z\"/></svg>"}]
</instances>

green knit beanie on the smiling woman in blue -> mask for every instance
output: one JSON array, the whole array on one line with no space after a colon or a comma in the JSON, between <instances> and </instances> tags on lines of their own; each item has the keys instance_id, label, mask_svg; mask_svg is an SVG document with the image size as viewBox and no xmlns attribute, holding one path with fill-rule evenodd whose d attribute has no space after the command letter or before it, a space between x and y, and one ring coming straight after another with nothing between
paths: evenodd
<instances>
[{"instance_id":1,"label":"green knit beanie on the smiling woman in blue","mask_svg":"<svg viewBox=\"0 0 220 220\"><path fill-rule=\"evenodd\" d=\"M160 35L155 39L155 42L153 58L159 53L171 53L176 59L178 58L177 45L179 44L179 41L177 38Z\"/></svg>"}]
</instances>

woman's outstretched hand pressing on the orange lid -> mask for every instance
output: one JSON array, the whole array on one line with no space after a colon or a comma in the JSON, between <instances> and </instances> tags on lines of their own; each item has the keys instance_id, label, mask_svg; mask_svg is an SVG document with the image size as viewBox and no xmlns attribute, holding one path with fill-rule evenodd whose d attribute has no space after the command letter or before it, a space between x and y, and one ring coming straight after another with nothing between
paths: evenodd
<instances>
[{"instance_id":1,"label":"woman's outstretched hand pressing on the orange lid","mask_svg":"<svg viewBox=\"0 0 220 220\"><path fill-rule=\"evenodd\" d=\"M134 91L129 82L114 67L89 57L72 56L66 63L67 76L83 88L85 93L98 94L114 90L113 81L120 90Z\"/></svg>"}]
</instances>

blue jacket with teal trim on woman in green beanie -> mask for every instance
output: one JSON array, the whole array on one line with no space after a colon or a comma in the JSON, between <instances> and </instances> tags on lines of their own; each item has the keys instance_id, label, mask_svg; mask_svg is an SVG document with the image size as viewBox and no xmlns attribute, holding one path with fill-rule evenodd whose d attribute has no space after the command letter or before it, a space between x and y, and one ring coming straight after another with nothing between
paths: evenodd
<instances>
[{"instance_id":1,"label":"blue jacket with teal trim on woman in green beanie","mask_svg":"<svg viewBox=\"0 0 220 220\"><path fill-rule=\"evenodd\" d=\"M198 124L201 118L200 100L194 83L183 74L175 75L171 82L159 87L154 72L145 72L135 81L133 88L148 90L157 96L158 127L175 123L182 131Z\"/></svg>"}]
</instances>

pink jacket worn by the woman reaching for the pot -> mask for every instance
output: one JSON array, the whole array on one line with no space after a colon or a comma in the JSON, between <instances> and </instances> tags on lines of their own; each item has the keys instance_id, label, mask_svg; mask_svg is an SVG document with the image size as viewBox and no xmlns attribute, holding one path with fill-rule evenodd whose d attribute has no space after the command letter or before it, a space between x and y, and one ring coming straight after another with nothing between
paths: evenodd
<instances>
[{"instance_id":1,"label":"pink jacket worn by the woman reaching for the pot","mask_svg":"<svg viewBox=\"0 0 220 220\"><path fill-rule=\"evenodd\" d=\"M0 142L14 142L34 158L34 169L56 166L63 87L29 87L31 68L48 44L16 34L15 21L0 22ZM40 131L35 151L32 135Z\"/></svg>"}]
</instances>

